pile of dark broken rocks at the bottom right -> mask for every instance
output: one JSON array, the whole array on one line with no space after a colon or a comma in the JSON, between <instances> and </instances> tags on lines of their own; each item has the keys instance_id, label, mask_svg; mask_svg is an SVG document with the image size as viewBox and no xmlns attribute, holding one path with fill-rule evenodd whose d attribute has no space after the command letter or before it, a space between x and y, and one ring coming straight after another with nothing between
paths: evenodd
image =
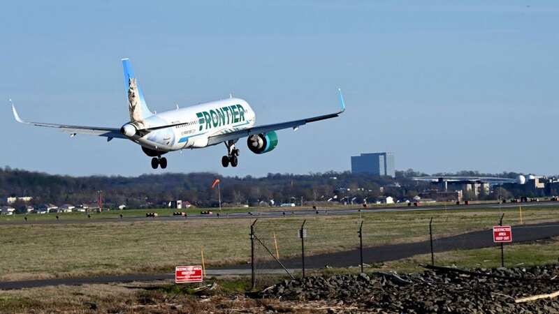
<instances>
[{"instance_id":1,"label":"pile of dark broken rocks at the bottom right","mask_svg":"<svg viewBox=\"0 0 559 314\"><path fill-rule=\"evenodd\" d=\"M260 292L259 297L320 300L340 311L356 313L559 313L558 298L515 303L515 299L558 290L559 266L550 265L314 276L282 281Z\"/></svg>"}]
</instances>

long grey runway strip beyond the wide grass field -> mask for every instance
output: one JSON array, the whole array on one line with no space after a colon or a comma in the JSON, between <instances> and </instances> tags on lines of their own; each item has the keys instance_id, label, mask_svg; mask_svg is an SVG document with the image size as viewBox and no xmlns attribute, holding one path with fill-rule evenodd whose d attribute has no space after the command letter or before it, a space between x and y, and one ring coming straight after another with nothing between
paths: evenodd
<instances>
[{"instance_id":1,"label":"long grey runway strip beyond the wide grass field","mask_svg":"<svg viewBox=\"0 0 559 314\"><path fill-rule=\"evenodd\" d=\"M552 207L559 206L559 202L530 202L530 203L506 203L506 204L470 204L470 205L449 205L446 208L449 210L457 209L507 209L507 208L517 208L519 205L522 207ZM398 212L398 211L433 211L445 209L443 205L422 205L419 207L372 207L372 208L361 208L361 207L349 207L347 209L283 209L281 211L247 211L243 213L232 213L221 215L214 211L213 215L201 215L201 214L189 214L189 216L159 216L157 218L146 218L146 217L126 217L126 211L122 211L124 215L123 218L119 217L109 217L109 218L93 218L93 219L64 219L64 214L60 215L60 220L36 220L28 221L21 217L21 220L11 220L2 221L0 225L43 225L43 224L69 224L69 223L119 223L119 222L131 222L131 221L180 221L180 220L193 220L193 219L231 219L231 218L281 218L281 217L293 217L293 216L337 216L337 215L349 215L361 213L374 213L374 212ZM14 218L18 218L15 216Z\"/></svg>"}]
</instances>

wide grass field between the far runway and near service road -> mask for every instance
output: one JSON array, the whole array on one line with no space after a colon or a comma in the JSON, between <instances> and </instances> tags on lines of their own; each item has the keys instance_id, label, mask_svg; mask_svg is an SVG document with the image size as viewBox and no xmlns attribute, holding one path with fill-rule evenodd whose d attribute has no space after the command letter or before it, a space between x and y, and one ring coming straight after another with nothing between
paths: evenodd
<instances>
[{"instance_id":1,"label":"wide grass field between the far runway and near service road","mask_svg":"<svg viewBox=\"0 0 559 314\"><path fill-rule=\"evenodd\" d=\"M518 209L505 209L504 223L519 223ZM524 223L559 220L559 207L523 210ZM363 214L365 246L421 241L434 217L435 237L491 227L500 211L406 211ZM355 248L359 214L312 216L305 228L307 255ZM261 219L256 234L280 257L300 251L297 230L303 218ZM177 264L208 266L249 262L249 219L0 225L0 280L170 272ZM395 228L405 225L406 228Z\"/></svg>"}]
</instances>

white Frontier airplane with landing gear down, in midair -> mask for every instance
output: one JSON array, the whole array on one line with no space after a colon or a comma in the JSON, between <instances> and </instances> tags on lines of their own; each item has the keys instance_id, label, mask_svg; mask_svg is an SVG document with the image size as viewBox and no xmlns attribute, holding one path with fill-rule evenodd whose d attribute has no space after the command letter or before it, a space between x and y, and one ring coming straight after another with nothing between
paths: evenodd
<instances>
[{"instance_id":1,"label":"white Frontier airplane with landing gear down, in midair","mask_svg":"<svg viewBox=\"0 0 559 314\"><path fill-rule=\"evenodd\" d=\"M122 59L124 84L128 99L130 121L121 128L95 126L73 126L66 124L48 124L23 120L10 99L15 121L33 126L58 128L70 133L106 137L107 142L113 138L127 139L139 144L143 152L152 157L152 168L165 169L167 159L161 157L170 151L182 149L202 149L224 143L227 154L222 157L222 166L237 167L239 149L235 144L242 137L247 137L247 146L254 154L265 154L277 146L277 130L293 128L297 130L310 122L339 117L345 111L344 97L338 89L340 110L332 114L286 121L276 124L255 126L256 113L246 100L230 98L224 100L192 105L189 107L152 112L145 102L142 90L136 81L131 62Z\"/></svg>"}]
</instances>

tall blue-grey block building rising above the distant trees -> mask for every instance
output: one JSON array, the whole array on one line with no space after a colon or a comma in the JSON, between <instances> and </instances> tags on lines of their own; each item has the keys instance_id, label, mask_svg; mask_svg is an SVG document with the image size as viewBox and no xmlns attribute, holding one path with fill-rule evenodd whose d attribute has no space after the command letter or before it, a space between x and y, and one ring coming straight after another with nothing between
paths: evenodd
<instances>
[{"instance_id":1,"label":"tall blue-grey block building rising above the distant trees","mask_svg":"<svg viewBox=\"0 0 559 314\"><path fill-rule=\"evenodd\" d=\"M394 153L369 153L351 156L351 172L395 177Z\"/></svg>"}]
</instances>

